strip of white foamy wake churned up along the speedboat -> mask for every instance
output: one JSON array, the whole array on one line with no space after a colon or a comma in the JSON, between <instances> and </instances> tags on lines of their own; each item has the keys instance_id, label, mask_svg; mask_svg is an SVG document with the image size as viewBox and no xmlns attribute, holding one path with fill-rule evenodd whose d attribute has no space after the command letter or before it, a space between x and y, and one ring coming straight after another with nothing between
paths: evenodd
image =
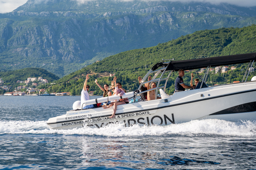
<instances>
[{"instance_id":1,"label":"strip of white foamy wake churned up along the speedboat","mask_svg":"<svg viewBox=\"0 0 256 170\"><path fill-rule=\"evenodd\" d=\"M103 136L256 136L256 122L229 122L218 119L195 120L168 126L124 127L122 124L110 124L103 128L78 128L69 130L49 129L46 121L1 121L0 134L80 134Z\"/></svg>"}]
</instances>

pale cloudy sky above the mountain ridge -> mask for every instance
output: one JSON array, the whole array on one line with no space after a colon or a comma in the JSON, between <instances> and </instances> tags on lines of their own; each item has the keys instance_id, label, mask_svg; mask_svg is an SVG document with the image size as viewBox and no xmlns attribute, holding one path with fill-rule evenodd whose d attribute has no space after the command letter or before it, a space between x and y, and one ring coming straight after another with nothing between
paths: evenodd
<instances>
[{"instance_id":1,"label":"pale cloudy sky above the mountain ridge","mask_svg":"<svg viewBox=\"0 0 256 170\"><path fill-rule=\"evenodd\" d=\"M50 1L50 0L36 0L36 1ZM91 0L76 0L80 3ZM123 1L131 1L131 0L123 0ZM150 1L150 0L145 0ZM156 1L156 0L154 0ZM242 7L254 7L256 6L256 0L168 0L168 1L180 1L180 2L209 2L212 4L219 4L221 2L225 2L231 5L237 5ZM0 0L0 13L12 12L19 6L25 4L27 0Z\"/></svg>"}]
</instances>

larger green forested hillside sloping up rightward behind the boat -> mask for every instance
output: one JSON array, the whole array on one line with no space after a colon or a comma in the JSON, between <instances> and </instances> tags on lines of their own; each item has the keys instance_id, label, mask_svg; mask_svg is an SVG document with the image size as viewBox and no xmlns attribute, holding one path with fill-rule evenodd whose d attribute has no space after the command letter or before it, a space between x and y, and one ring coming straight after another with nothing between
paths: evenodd
<instances>
[{"instance_id":1,"label":"larger green forested hillside sloping up rightward behind the boat","mask_svg":"<svg viewBox=\"0 0 256 170\"><path fill-rule=\"evenodd\" d=\"M119 82L127 90L136 90L139 86L137 77L144 76L146 72L161 59L185 60L203 57L214 57L256 52L256 25L243 28L221 28L217 30L197 31L193 34L182 36L176 40L159 43L157 46L134 49L107 57L102 61L71 73L50 87L50 92L72 92L73 95L81 93L85 75L90 74L88 84L90 91L103 94L94 80L99 79L99 84L110 84L111 77L102 77L103 74L115 73ZM255 64L254 64L255 65ZM231 83L241 81L247 67L246 64L235 65L237 68L227 73L209 75L209 85L218 83ZM241 71L241 69L245 68ZM198 71L198 70L196 70ZM167 93L174 91L174 82L177 73L173 73L167 84ZM250 73L249 79L254 72ZM190 73L185 73L185 84L190 82Z\"/></svg>"}]
</instances>

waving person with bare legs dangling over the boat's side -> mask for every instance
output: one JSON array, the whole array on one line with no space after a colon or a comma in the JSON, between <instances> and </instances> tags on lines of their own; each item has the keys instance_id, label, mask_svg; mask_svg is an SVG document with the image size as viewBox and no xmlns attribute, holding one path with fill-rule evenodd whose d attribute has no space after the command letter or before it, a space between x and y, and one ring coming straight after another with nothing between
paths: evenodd
<instances>
[{"instance_id":1,"label":"waving person with bare legs dangling over the boat's side","mask_svg":"<svg viewBox=\"0 0 256 170\"><path fill-rule=\"evenodd\" d=\"M118 88L118 87L120 87L120 85L118 85L116 83L116 77L114 77L114 82L115 82L115 91L114 91L115 94L114 95L122 96L125 92L123 89ZM120 99L119 101L115 100L113 103L110 103L109 105L104 106L103 108L107 109L107 108L110 108L111 106L113 106L113 114L109 118L114 118L115 114L116 114L117 106L127 104L127 103L129 103L128 98L124 98L124 99Z\"/></svg>"}]
</instances>

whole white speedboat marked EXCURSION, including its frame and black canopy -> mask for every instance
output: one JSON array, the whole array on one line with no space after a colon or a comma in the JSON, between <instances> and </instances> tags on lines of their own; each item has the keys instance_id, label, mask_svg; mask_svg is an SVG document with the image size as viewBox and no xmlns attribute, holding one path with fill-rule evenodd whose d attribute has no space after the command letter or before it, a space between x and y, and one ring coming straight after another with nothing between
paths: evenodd
<instances>
[{"instance_id":1,"label":"whole white speedboat marked EXCURSION, including its frame and black canopy","mask_svg":"<svg viewBox=\"0 0 256 170\"><path fill-rule=\"evenodd\" d=\"M256 53L200 58L192 60L171 61L163 60L155 64L142 79L143 84L148 83L147 77L154 74L149 82L156 82L156 96L160 93L161 99L139 101L117 106L115 117L110 119L113 108L81 109L74 107L65 115L50 118L47 122L52 129L70 129L81 127L103 127L112 123L122 123L124 126L138 125L170 125L201 119L221 119L227 121L256 120L256 81L247 81ZM206 78L210 67L246 63L246 73L239 83L230 83L208 86ZM179 69L191 70L207 67L205 75L201 78L195 90L176 92L172 96L164 91L170 74ZM247 74L248 72L248 74ZM140 89L140 87L138 89ZM149 91L149 90L148 90ZM147 91L144 91L147 92ZM122 98L132 98L136 101L140 94L125 93ZM157 97L156 97L157 98ZM86 101L84 105L91 105L120 99L119 96L110 96Z\"/></svg>"}]
</instances>

